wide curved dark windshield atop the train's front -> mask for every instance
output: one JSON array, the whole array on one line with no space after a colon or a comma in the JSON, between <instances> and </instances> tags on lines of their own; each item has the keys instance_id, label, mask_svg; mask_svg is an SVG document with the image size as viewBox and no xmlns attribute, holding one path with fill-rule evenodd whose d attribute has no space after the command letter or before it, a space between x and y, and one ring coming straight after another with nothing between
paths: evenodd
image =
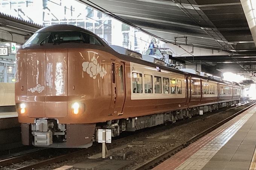
<instances>
[{"instance_id":1,"label":"wide curved dark windshield atop the train's front","mask_svg":"<svg viewBox=\"0 0 256 170\"><path fill-rule=\"evenodd\" d=\"M32 44L60 44L60 43L87 43L102 45L96 37L91 34L77 31L56 31L35 33L23 46Z\"/></svg>"}]
</instances>

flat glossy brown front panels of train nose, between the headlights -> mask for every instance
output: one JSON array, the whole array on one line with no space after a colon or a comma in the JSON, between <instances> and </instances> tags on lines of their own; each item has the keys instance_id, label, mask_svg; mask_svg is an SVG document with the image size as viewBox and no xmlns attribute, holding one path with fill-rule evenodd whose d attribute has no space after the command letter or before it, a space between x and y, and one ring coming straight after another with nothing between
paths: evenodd
<instances>
[{"instance_id":1,"label":"flat glossy brown front panels of train nose, between the headlights","mask_svg":"<svg viewBox=\"0 0 256 170\"><path fill-rule=\"evenodd\" d=\"M28 50L27 65L27 116L66 117L67 49Z\"/></svg>"}]
</instances>

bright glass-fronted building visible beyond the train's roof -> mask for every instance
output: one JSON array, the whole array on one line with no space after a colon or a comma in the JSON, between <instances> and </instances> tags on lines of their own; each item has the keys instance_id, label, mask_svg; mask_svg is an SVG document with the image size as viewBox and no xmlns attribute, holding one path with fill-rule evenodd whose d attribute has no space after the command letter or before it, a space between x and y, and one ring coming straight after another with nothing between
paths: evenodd
<instances>
[{"instance_id":1,"label":"bright glass-fronted building visible beyond the train's roof","mask_svg":"<svg viewBox=\"0 0 256 170\"><path fill-rule=\"evenodd\" d=\"M76 0L0 0L0 12L45 26L76 25L92 31L110 45L123 46L142 54L155 40Z\"/></svg>"}]
</instances>

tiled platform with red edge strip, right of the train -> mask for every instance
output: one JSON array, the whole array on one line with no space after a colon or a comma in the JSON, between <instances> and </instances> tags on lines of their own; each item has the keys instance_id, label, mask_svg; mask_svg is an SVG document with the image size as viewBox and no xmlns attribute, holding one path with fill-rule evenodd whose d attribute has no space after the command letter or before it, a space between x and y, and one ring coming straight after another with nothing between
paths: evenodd
<instances>
[{"instance_id":1,"label":"tiled platform with red edge strip, right of the train","mask_svg":"<svg viewBox=\"0 0 256 170\"><path fill-rule=\"evenodd\" d=\"M256 105L152 170L256 169Z\"/></svg>"}]
</instances>

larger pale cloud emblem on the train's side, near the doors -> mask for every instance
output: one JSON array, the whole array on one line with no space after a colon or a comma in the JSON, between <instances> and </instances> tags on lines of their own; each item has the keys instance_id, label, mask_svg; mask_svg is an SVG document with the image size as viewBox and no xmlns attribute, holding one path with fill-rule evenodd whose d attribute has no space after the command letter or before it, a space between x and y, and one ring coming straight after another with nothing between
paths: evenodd
<instances>
[{"instance_id":1,"label":"larger pale cloud emblem on the train's side, near the doors","mask_svg":"<svg viewBox=\"0 0 256 170\"><path fill-rule=\"evenodd\" d=\"M88 55L90 58L90 52L88 51ZM80 52L79 52L80 53ZM97 54L95 52L93 52L94 55ZM82 54L80 53L80 55L82 56ZM101 78L103 79L103 77L107 74L107 71L105 70L104 67L101 67L97 61L97 59L99 58L99 56L96 58L93 55L93 58L91 58L91 62L84 62L82 63L83 66L83 71L86 72L88 75L90 75L91 78L96 79L96 76L99 74L101 76ZM83 57L83 56L82 56ZM84 57L83 57L84 58Z\"/></svg>"}]
</instances>

